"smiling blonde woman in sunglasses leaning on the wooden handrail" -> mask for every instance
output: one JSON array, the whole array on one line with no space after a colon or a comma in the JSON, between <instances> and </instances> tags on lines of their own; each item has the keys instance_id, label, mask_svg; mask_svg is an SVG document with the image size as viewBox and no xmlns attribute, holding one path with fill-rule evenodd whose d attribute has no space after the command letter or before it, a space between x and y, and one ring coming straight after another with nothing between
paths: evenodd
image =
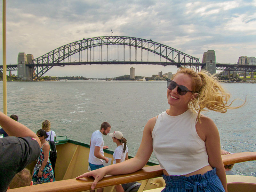
<instances>
[{"instance_id":1,"label":"smiling blonde woman in sunglasses leaning on the wooden handrail","mask_svg":"<svg viewBox=\"0 0 256 192\"><path fill-rule=\"evenodd\" d=\"M197 73L189 68L178 70L173 79L167 81L170 108L145 125L136 156L76 179L93 176L92 188L95 188L105 175L126 174L143 168L154 151L164 172L163 192L227 192L218 129L211 118L200 112L207 108L225 113L232 109L227 104L229 99L230 95L209 73Z\"/></svg>"}]
</instances>

